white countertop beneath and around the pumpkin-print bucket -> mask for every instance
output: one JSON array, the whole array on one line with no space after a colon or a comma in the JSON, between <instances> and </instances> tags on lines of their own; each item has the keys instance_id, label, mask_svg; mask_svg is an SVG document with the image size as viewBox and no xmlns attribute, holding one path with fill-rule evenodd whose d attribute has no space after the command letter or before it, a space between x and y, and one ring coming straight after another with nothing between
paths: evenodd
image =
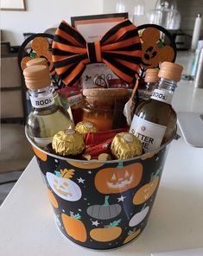
<instances>
[{"instance_id":1,"label":"white countertop beneath and around the pumpkin-print bucket","mask_svg":"<svg viewBox=\"0 0 203 256\"><path fill-rule=\"evenodd\" d=\"M181 81L176 111L203 112L203 89ZM180 131L178 131L180 133ZM0 255L149 256L150 253L203 247L203 149L181 137L168 152L162 180L143 234L127 246L93 251L73 244L56 227L35 158L0 208Z\"/></svg>"}]
</instances>

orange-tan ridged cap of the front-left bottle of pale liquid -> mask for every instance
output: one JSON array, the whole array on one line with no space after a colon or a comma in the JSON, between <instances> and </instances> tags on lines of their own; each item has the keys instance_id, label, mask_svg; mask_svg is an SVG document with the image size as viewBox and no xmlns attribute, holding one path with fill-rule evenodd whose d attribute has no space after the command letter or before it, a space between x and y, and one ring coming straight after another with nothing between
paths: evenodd
<instances>
[{"instance_id":1,"label":"orange-tan ridged cap of the front-left bottle of pale liquid","mask_svg":"<svg viewBox=\"0 0 203 256\"><path fill-rule=\"evenodd\" d=\"M30 90L42 89L50 85L48 66L35 65L23 70L25 84Z\"/></svg>"}]
</instances>

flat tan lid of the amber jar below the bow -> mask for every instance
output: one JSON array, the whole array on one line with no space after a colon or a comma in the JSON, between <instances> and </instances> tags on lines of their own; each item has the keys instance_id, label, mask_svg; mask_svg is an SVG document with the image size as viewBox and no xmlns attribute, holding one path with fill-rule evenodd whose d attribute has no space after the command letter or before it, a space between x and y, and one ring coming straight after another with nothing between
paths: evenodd
<instances>
[{"instance_id":1,"label":"flat tan lid of the amber jar below the bow","mask_svg":"<svg viewBox=\"0 0 203 256\"><path fill-rule=\"evenodd\" d=\"M122 97L126 96L128 90L126 88L110 88L110 89L100 89L100 88L92 88L92 89L84 89L83 95L86 97Z\"/></svg>"}]
</instances>

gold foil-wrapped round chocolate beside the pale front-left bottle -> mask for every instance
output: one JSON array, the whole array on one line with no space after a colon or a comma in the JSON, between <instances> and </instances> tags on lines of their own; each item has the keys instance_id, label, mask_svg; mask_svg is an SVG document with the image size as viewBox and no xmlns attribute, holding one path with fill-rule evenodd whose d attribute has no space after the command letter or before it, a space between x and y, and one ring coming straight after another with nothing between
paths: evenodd
<instances>
[{"instance_id":1,"label":"gold foil-wrapped round chocolate beside the pale front-left bottle","mask_svg":"<svg viewBox=\"0 0 203 256\"><path fill-rule=\"evenodd\" d=\"M82 134L67 129L54 135L52 147L60 156L78 155L85 149L85 143Z\"/></svg>"}]
</instances>

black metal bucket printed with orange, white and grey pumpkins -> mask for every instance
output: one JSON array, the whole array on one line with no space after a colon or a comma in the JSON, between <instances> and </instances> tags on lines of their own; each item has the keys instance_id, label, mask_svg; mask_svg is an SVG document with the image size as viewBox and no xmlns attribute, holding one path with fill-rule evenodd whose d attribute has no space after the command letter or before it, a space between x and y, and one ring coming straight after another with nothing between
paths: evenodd
<instances>
[{"instance_id":1,"label":"black metal bucket printed with orange, white and grey pumpkins","mask_svg":"<svg viewBox=\"0 0 203 256\"><path fill-rule=\"evenodd\" d=\"M32 144L47 183L60 231L92 249L111 249L135 239L149 219L168 153L159 150L127 160L81 161Z\"/></svg>"}]
</instances>

